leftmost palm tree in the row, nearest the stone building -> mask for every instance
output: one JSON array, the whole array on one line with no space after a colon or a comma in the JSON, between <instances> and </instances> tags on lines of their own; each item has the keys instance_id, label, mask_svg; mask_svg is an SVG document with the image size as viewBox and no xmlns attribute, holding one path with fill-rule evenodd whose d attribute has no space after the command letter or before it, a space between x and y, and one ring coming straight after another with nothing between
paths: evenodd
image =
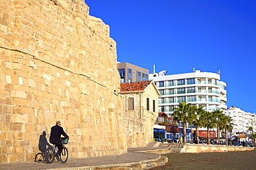
<instances>
[{"instance_id":1,"label":"leftmost palm tree in the row, nearest the stone building","mask_svg":"<svg viewBox=\"0 0 256 170\"><path fill-rule=\"evenodd\" d=\"M187 128L187 123L189 118L188 115L190 114L190 110L191 110L191 105L192 105L191 103L180 102L179 107L174 107L174 113L172 114L174 120L183 123L184 145L187 143L186 128Z\"/></svg>"}]
</instances>

